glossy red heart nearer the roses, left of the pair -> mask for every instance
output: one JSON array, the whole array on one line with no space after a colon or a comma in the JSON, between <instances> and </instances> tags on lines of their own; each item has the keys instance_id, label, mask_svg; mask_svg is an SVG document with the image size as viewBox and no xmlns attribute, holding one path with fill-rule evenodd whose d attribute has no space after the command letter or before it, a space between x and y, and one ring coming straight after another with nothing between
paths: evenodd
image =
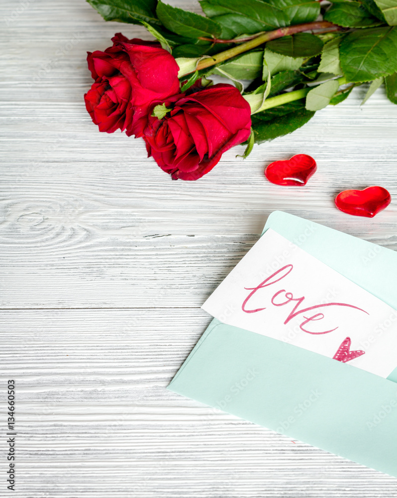
<instances>
[{"instance_id":1,"label":"glossy red heart nearer the roses, left of the pair","mask_svg":"<svg viewBox=\"0 0 397 498\"><path fill-rule=\"evenodd\" d=\"M297 154L288 161L275 161L265 169L266 178L276 185L306 185L317 169L315 160L306 154Z\"/></svg>"}]
</instances>

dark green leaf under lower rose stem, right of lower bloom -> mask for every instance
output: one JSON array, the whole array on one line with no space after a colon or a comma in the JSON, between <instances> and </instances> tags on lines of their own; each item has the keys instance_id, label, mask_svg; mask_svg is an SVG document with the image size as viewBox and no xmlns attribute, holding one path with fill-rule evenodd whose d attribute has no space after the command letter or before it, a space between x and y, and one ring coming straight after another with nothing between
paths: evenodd
<instances>
[{"instance_id":1,"label":"dark green leaf under lower rose stem, right of lower bloom","mask_svg":"<svg viewBox=\"0 0 397 498\"><path fill-rule=\"evenodd\" d=\"M262 143L287 135L307 123L314 114L304 108L304 99L255 114L251 118L255 142Z\"/></svg>"}]
</instances>

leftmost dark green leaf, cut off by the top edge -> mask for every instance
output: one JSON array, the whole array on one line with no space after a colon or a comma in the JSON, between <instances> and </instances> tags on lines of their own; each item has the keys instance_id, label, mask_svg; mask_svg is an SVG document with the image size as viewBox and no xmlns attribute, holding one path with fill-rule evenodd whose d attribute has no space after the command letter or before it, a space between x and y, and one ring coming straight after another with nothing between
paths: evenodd
<instances>
[{"instance_id":1,"label":"leftmost dark green leaf, cut off by the top edge","mask_svg":"<svg viewBox=\"0 0 397 498\"><path fill-rule=\"evenodd\" d=\"M156 15L157 0L87 0L105 21L129 22L140 24L145 21L159 24Z\"/></svg>"}]
</instances>

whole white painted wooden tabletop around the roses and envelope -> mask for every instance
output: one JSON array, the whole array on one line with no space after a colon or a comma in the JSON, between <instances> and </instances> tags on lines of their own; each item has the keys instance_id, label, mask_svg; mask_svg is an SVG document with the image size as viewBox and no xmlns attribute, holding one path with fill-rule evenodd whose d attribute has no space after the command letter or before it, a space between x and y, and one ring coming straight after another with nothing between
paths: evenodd
<instances>
[{"instance_id":1,"label":"whole white painted wooden tabletop around the roses and envelope","mask_svg":"<svg viewBox=\"0 0 397 498\"><path fill-rule=\"evenodd\" d=\"M196 1L174 5L199 11ZM276 209L397 249L397 106L363 89L291 136L171 181L142 140L99 133L86 51L116 31L82 0L1 2L0 496L397 497L396 479L165 389L210 318L199 309ZM263 176L312 155L304 188ZM374 219L337 211L379 184ZM5 380L17 385L16 491Z\"/></svg>"}]
</instances>

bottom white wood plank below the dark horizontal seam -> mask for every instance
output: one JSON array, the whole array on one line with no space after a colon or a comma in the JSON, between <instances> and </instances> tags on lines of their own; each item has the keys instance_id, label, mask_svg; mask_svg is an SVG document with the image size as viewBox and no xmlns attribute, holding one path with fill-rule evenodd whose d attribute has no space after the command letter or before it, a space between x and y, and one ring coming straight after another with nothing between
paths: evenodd
<instances>
[{"instance_id":1,"label":"bottom white wood plank below the dark horizontal seam","mask_svg":"<svg viewBox=\"0 0 397 498\"><path fill-rule=\"evenodd\" d=\"M394 478L167 391L208 321L202 310L1 311L1 370L17 381L13 495L396 496Z\"/></svg>"}]
</instances>

